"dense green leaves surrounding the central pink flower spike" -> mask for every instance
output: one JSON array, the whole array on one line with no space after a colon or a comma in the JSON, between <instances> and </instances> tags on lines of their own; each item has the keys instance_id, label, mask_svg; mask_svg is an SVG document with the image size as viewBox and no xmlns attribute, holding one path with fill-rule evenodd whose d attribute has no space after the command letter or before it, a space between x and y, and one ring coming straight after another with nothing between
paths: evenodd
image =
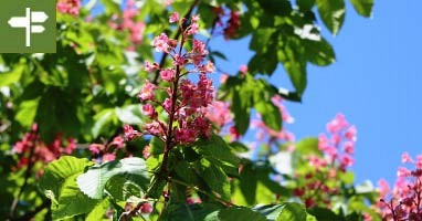
<instances>
[{"instance_id":1,"label":"dense green leaves surrounding the central pink flower spike","mask_svg":"<svg viewBox=\"0 0 422 221\"><path fill-rule=\"evenodd\" d=\"M233 73L217 90L217 98L230 104L234 129L244 135L255 112L267 128L283 130L283 113L272 98L302 101L307 64L326 66L336 61L317 23L337 34L348 2L176 0L166 7L156 0L137 1L138 11L130 19L144 23L138 42L131 41L130 30L112 28L125 20L123 2L102 0L99 12L91 9L92 3L77 15L57 13L57 53L0 56L1 220L103 220L108 215L114 220L355 221L363 220L363 213L380 220L369 209L377 201L370 183L355 186L352 172L336 164L320 170L308 165L309 156L324 158L317 138L296 144L281 140L276 150L262 143L254 159L244 157L247 144L232 140L215 125L209 138L179 144L167 154L167 144L151 136L127 141L123 148L114 144L125 124L141 130L149 120L136 96L144 80L167 86L158 71L148 73L144 63L158 60L162 67L172 65L171 57L150 46L162 32L179 40L179 29L168 22L172 12L186 18L199 14L199 35L205 41L224 31L226 39L251 38L249 49L254 55L247 73ZM350 3L359 14L370 17L372 0ZM219 24L218 10L239 18L223 18ZM240 25L230 27L235 19ZM230 60L219 49L208 50L215 66ZM276 72L278 65L285 73ZM265 77L275 74L287 74L295 91L286 92ZM18 143L29 148L17 151ZM103 145L101 154L88 150L94 143ZM147 145L149 157L143 156ZM288 150L289 146L295 149ZM278 152L288 152L287 167L294 172L275 169L270 159ZM105 162L108 154L116 159ZM336 179L326 177L330 169L337 170ZM326 181L338 191L325 196L316 188L307 197L321 197L309 207L295 193L309 179ZM146 203L152 210L139 214Z\"/></svg>"}]
</instances>

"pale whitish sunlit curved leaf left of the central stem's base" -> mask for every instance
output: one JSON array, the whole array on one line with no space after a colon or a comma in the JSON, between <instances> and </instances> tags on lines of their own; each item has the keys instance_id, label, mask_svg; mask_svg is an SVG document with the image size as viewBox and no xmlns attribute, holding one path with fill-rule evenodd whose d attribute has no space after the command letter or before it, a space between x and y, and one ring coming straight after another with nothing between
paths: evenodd
<instances>
[{"instance_id":1,"label":"pale whitish sunlit curved leaf left of the central stem's base","mask_svg":"<svg viewBox=\"0 0 422 221\"><path fill-rule=\"evenodd\" d=\"M85 194L93 199L102 199L108 180L117 175L136 175L144 179L145 186L149 182L145 160L137 157L93 166L78 176L76 181Z\"/></svg>"}]
</instances>

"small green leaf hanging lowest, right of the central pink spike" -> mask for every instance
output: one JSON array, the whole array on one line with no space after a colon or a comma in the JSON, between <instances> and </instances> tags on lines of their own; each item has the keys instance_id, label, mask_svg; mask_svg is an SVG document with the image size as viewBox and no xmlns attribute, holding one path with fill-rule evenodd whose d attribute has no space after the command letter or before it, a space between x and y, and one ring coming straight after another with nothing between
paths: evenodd
<instances>
[{"instance_id":1,"label":"small green leaf hanging lowest, right of the central pink spike","mask_svg":"<svg viewBox=\"0 0 422 221\"><path fill-rule=\"evenodd\" d=\"M279 109L271 102L255 103L255 109L261 114L261 117L266 126L279 131L282 129L282 114Z\"/></svg>"}]
</instances>

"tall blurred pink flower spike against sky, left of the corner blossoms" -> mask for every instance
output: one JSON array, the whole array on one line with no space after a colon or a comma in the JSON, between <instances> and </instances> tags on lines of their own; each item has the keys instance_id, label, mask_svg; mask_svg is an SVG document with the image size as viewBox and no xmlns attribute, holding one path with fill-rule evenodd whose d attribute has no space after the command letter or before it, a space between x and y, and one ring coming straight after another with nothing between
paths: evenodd
<instances>
[{"instance_id":1,"label":"tall blurred pink flower spike against sky, left of the corner blossoms","mask_svg":"<svg viewBox=\"0 0 422 221\"><path fill-rule=\"evenodd\" d=\"M345 172L354 164L356 127L349 126L345 116L338 114L327 124L327 130L330 137L320 134L318 140L318 149L323 156L306 156L309 166L315 170L304 175L304 183L293 191L308 208L330 207L331 197L339 193L339 171ZM338 185L328 186L329 182Z\"/></svg>"}]
</instances>

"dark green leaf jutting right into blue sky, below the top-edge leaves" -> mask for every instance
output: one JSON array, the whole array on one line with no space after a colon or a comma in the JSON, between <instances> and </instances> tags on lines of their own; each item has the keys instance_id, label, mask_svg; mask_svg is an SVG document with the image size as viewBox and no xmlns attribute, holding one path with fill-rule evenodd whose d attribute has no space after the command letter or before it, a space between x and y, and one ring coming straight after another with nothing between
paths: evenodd
<instances>
[{"instance_id":1,"label":"dark green leaf jutting right into blue sky, below the top-edge leaves","mask_svg":"<svg viewBox=\"0 0 422 221\"><path fill-rule=\"evenodd\" d=\"M316 65L327 66L336 61L336 54L331 45L325 40L304 41L306 48L306 59Z\"/></svg>"}]
</instances>

